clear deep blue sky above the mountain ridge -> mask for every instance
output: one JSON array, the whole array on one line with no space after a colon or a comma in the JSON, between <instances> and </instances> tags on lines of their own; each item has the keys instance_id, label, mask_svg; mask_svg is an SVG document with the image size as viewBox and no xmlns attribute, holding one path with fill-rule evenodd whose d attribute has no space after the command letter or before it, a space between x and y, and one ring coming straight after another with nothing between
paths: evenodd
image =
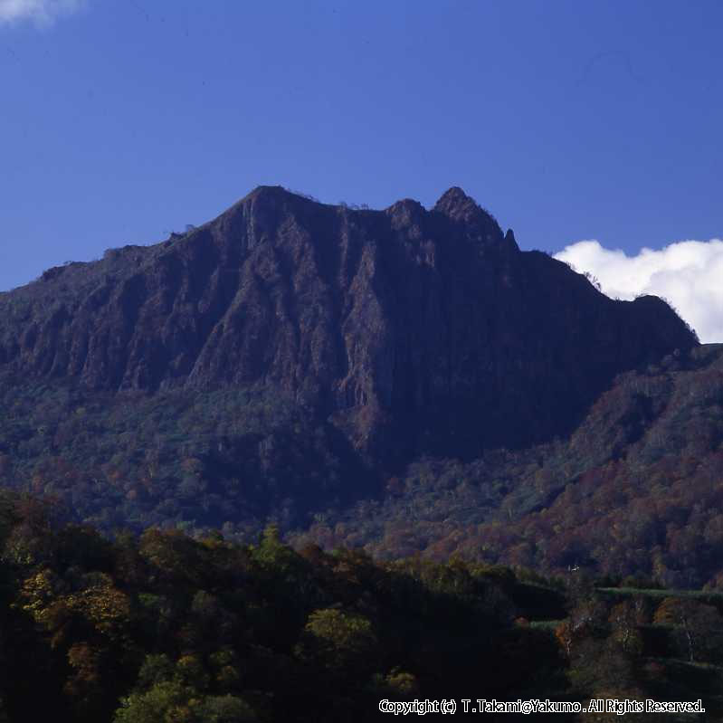
<instances>
[{"instance_id":1,"label":"clear deep blue sky above the mountain ridge","mask_svg":"<svg viewBox=\"0 0 723 723\"><path fill-rule=\"evenodd\" d=\"M372 207L462 186L553 252L723 236L719 1L4 4L0 290L259 184Z\"/></svg>"}]
</instances>

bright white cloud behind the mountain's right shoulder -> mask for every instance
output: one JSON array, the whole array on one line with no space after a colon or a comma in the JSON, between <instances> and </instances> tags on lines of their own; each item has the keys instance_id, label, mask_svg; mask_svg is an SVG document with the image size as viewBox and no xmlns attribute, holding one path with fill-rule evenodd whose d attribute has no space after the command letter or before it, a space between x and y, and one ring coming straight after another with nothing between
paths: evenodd
<instances>
[{"instance_id":1,"label":"bright white cloud behind the mountain's right shoulder","mask_svg":"<svg viewBox=\"0 0 723 723\"><path fill-rule=\"evenodd\" d=\"M644 248L635 256L600 243L578 241L555 254L576 271L600 281L604 293L618 299L639 294L664 297L699 335L723 342L723 241L680 241L660 251Z\"/></svg>"}]
</instances>

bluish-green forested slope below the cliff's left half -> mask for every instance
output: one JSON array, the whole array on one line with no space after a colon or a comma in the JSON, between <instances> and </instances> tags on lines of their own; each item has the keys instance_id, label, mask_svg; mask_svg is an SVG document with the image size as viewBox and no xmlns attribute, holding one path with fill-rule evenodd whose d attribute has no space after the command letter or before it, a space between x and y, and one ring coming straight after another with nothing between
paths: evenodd
<instances>
[{"instance_id":1,"label":"bluish-green forested slope below the cliff's left half","mask_svg":"<svg viewBox=\"0 0 723 723\"><path fill-rule=\"evenodd\" d=\"M336 428L274 390L112 395L6 380L0 391L0 482L107 531L222 528L243 539L267 520L298 527L377 492Z\"/></svg>"}]
</instances>

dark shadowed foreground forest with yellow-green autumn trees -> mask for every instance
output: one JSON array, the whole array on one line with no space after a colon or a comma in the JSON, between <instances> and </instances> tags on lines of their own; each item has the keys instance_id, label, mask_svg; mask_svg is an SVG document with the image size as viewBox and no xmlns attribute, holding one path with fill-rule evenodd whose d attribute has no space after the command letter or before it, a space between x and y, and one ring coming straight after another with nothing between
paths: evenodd
<instances>
[{"instance_id":1,"label":"dark shadowed foreground forest with yellow-green autumn trees","mask_svg":"<svg viewBox=\"0 0 723 723\"><path fill-rule=\"evenodd\" d=\"M427 698L700 698L699 719L723 712L720 595L295 552L275 528L247 546L158 529L110 541L7 493L0 576L7 721L336 723Z\"/></svg>"}]
</instances>

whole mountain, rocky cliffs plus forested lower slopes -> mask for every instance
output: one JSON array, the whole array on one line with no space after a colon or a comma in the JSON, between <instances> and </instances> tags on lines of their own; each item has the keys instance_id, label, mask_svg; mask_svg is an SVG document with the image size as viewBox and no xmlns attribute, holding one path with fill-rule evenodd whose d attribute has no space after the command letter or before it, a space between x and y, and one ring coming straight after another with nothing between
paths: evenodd
<instances>
[{"instance_id":1,"label":"whole mountain, rocky cliffs plus forested lower slopes","mask_svg":"<svg viewBox=\"0 0 723 723\"><path fill-rule=\"evenodd\" d=\"M262 186L0 294L0 483L106 531L723 586L722 360L459 188Z\"/></svg>"}]
</instances>

